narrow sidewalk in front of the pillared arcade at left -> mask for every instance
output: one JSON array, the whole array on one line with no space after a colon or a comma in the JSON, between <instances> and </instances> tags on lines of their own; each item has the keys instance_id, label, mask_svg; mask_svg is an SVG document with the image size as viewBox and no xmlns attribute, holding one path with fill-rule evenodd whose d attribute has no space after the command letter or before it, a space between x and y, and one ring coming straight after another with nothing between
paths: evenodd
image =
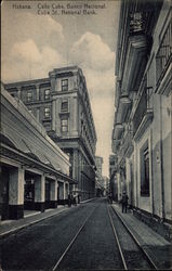
<instances>
[{"instance_id":1,"label":"narrow sidewalk in front of the pillared arcade at left","mask_svg":"<svg viewBox=\"0 0 172 271\"><path fill-rule=\"evenodd\" d=\"M88 201L83 201L80 204L88 203L95 198L91 198ZM79 206L79 205L78 205ZM36 211L36 210L25 210L24 218L18 220L0 220L0 238L6 237L8 235L15 233L26 227L38 223L41 220L47 218L56 216L62 211L68 210L67 205L58 205L55 209L45 209L44 212Z\"/></svg>"}]
</instances>

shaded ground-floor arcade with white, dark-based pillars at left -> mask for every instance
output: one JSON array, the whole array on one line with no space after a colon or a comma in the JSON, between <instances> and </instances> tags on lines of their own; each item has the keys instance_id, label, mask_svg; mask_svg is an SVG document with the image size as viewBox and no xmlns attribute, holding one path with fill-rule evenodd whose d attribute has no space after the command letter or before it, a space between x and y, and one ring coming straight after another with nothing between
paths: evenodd
<instances>
[{"instance_id":1,"label":"shaded ground-floor arcade with white, dark-based pillars at left","mask_svg":"<svg viewBox=\"0 0 172 271\"><path fill-rule=\"evenodd\" d=\"M23 218L24 210L44 211L67 203L69 182L37 168L3 160L0 180L2 220Z\"/></svg>"}]
</instances>

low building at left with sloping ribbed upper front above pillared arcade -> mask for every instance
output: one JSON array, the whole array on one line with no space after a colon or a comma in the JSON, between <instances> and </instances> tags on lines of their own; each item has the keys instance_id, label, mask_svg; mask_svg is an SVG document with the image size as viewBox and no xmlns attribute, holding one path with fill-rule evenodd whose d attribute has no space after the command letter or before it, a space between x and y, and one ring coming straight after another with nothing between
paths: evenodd
<instances>
[{"instance_id":1,"label":"low building at left with sloping ribbed upper front above pillared arcade","mask_svg":"<svg viewBox=\"0 0 172 271\"><path fill-rule=\"evenodd\" d=\"M19 219L25 209L44 211L69 193L68 156L48 137L21 100L1 86L0 217Z\"/></svg>"}]
</instances>

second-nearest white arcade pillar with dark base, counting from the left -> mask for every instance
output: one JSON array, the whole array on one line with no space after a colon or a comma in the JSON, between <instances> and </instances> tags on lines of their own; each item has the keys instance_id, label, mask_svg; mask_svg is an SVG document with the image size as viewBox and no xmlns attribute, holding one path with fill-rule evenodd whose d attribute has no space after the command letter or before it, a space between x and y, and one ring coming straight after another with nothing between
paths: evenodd
<instances>
[{"instance_id":1,"label":"second-nearest white arcade pillar with dark base, counting from the left","mask_svg":"<svg viewBox=\"0 0 172 271\"><path fill-rule=\"evenodd\" d=\"M45 178L44 176L37 176L35 178L35 209L44 211L44 196L45 196Z\"/></svg>"}]
</instances>

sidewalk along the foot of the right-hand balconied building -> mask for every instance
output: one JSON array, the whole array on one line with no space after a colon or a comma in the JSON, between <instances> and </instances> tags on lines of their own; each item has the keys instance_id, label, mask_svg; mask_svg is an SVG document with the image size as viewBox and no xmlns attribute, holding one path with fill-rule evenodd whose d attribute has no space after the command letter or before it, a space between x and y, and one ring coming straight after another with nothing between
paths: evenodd
<instances>
[{"instance_id":1,"label":"sidewalk along the foot of the right-hand balconied building","mask_svg":"<svg viewBox=\"0 0 172 271\"><path fill-rule=\"evenodd\" d=\"M132 210L122 214L119 204L113 204L111 206L125 222L141 246L154 260L158 269L172 269L172 244L135 218Z\"/></svg>"}]
</instances>

